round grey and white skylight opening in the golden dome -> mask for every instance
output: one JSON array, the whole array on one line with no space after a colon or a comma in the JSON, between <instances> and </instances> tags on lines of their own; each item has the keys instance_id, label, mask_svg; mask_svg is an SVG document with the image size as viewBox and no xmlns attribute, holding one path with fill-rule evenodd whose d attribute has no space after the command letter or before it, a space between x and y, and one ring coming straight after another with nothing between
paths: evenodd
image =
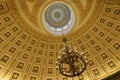
<instances>
[{"instance_id":1,"label":"round grey and white skylight opening in the golden dome","mask_svg":"<svg viewBox=\"0 0 120 80\"><path fill-rule=\"evenodd\" d=\"M54 35L61 35L71 30L74 23L74 13L66 3L53 3L47 6L43 13L44 27Z\"/></svg>"}]
</instances>

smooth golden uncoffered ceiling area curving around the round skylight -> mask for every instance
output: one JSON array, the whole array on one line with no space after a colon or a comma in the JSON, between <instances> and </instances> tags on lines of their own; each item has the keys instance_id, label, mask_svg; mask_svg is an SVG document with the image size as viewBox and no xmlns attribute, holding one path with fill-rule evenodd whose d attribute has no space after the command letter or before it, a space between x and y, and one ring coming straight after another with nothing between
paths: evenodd
<instances>
[{"instance_id":1,"label":"smooth golden uncoffered ceiling area curving around the round skylight","mask_svg":"<svg viewBox=\"0 0 120 80\"><path fill-rule=\"evenodd\" d=\"M8 1L9 2L9 1ZM74 35L75 32L78 32L77 29L81 29L82 26L89 28L89 26L85 26L86 24L89 24L89 19L93 16L95 12L96 5L99 4L96 0L91 0L91 1L68 1L68 0L58 0L58 1L19 1L15 0L13 2L10 2L9 8L11 9L12 13L16 13L14 17L17 19L18 15L20 18L22 18L21 25L28 25L29 28L31 27L32 29L36 29L39 33L42 33L42 35L47 36L47 37L53 37L52 34L50 34L46 29L44 25L44 19L43 19L43 14L46 8L48 8L48 5L55 4L55 3L64 3L66 6L71 8L72 12L74 15L72 15L72 24L71 26L73 27L72 30L69 30L69 33L67 34L68 36L71 36L71 34ZM14 4L14 7L17 8L18 11L15 11L13 6L11 4ZM99 7L97 7L99 8ZM66 11L66 10L64 10ZM49 12L50 13L50 12ZM77 15L77 16L76 16ZM50 18L50 16L48 16ZM23 20L24 19L24 20ZM18 20L19 21L19 20ZM60 22L59 22L60 23ZM65 23L65 22L64 22ZM92 24L92 22L90 22ZM53 25L52 25L53 26ZM55 25L54 25L55 26ZM28 27L27 27L28 28ZM82 29L81 33L85 32L86 30ZM75 33L76 34L76 33ZM80 34L80 33L79 33ZM59 36L55 36L59 37Z\"/></svg>"}]
</instances>

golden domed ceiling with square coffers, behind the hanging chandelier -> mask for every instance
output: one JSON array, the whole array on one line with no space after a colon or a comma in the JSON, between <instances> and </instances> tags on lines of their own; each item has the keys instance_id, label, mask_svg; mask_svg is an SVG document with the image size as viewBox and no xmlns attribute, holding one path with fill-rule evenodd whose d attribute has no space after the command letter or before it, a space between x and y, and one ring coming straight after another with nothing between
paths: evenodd
<instances>
[{"instance_id":1,"label":"golden domed ceiling with square coffers, behind the hanging chandelier","mask_svg":"<svg viewBox=\"0 0 120 80\"><path fill-rule=\"evenodd\" d=\"M56 5L67 10L52 11ZM119 0L0 0L0 80L77 80L56 69L62 36L45 24L61 28L70 18L68 43L88 58L80 80L101 80L119 71Z\"/></svg>"}]
</instances>

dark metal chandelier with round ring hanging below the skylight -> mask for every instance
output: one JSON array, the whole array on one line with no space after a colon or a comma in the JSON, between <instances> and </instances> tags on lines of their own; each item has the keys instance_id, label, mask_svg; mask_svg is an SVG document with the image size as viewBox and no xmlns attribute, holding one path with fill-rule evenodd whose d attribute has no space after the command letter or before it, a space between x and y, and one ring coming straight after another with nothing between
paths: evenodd
<instances>
[{"instance_id":1,"label":"dark metal chandelier with round ring hanging below the skylight","mask_svg":"<svg viewBox=\"0 0 120 80\"><path fill-rule=\"evenodd\" d=\"M64 37L64 45L57 59L57 68L63 76L79 76L86 70L87 58L72 44L67 45L66 41L67 38Z\"/></svg>"}]
</instances>

